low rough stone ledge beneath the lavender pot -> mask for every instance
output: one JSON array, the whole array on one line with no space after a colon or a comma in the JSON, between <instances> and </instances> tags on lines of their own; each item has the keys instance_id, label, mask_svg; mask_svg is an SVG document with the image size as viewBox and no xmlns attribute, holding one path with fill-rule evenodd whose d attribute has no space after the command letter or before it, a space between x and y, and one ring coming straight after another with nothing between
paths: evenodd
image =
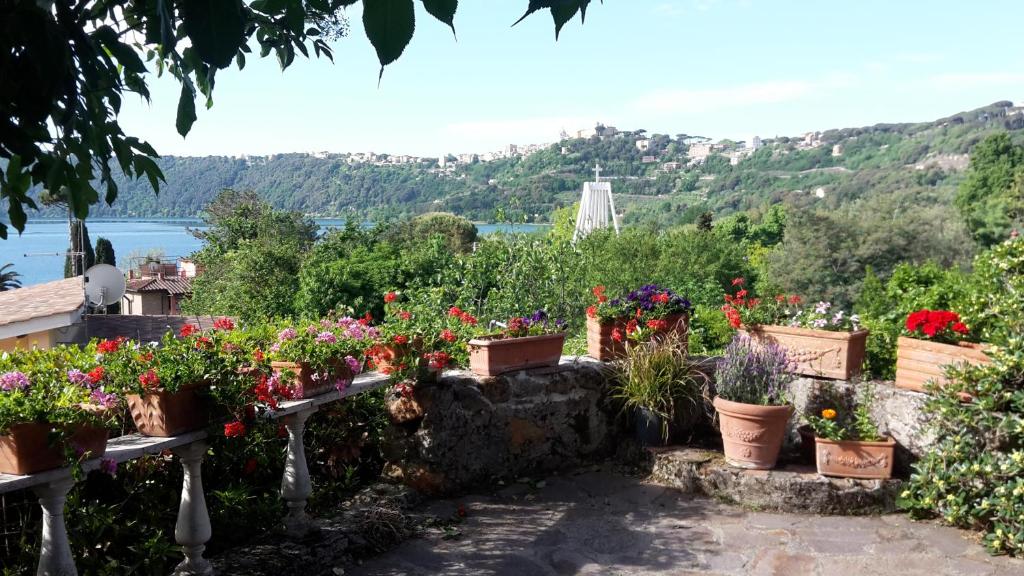
<instances>
[{"instance_id":1,"label":"low rough stone ledge beneath the lavender pot","mask_svg":"<svg viewBox=\"0 0 1024 576\"><path fill-rule=\"evenodd\" d=\"M696 448L648 449L651 480L686 493L706 494L758 510L863 516L896 509L899 480L819 476L812 466L773 470L732 467L721 454Z\"/></svg>"}]
</instances>

